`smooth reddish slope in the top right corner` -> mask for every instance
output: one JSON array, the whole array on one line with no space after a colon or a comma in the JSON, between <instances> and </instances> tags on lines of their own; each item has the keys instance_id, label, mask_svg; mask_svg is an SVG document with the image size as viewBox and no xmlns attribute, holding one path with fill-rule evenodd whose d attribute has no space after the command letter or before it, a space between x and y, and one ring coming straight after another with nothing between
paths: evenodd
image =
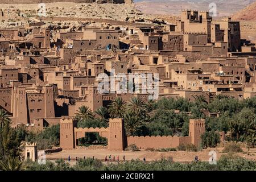
<instances>
[{"instance_id":1,"label":"smooth reddish slope in the top right corner","mask_svg":"<svg viewBox=\"0 0 256 182\"><path fill-rule=\"evenodd\" d=\"M232 18L237 20L256 20L256 2L238 11Z\"/></svg>"}]
</instances>

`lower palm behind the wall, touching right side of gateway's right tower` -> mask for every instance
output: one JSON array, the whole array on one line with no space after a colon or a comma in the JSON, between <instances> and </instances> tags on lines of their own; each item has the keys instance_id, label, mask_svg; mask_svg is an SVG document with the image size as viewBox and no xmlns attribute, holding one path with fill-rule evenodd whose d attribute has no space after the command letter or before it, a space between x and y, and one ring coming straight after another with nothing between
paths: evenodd
<instances>
[{"instance_id":1,"label":"lower palm behind the wall, touching right side of gateway's right tower","mask_svg":"<svg viewBox=\"0 0 256 182\"><path fill-rule=\"evenodd\" d=\"M127 111L124 114L125 119L125 131L127 136L135 135L137 131L140 130L142 126L141 119L138 116L130 111Z\"/></svg>"}]
</instances>

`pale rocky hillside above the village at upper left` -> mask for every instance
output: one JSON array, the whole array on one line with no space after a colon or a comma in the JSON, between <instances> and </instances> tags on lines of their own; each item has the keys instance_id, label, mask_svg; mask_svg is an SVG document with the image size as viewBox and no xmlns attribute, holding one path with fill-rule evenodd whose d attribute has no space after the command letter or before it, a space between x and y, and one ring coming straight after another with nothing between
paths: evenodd
<instances>
[{"instance_id":1,"label":"pale rocky hillside above the village at upper left","mask_svg":"<svg viewBox=\"0 0 256 182\"><path fill-rule=\"evenodd\" d=\"M17 23L20 25L27 23L28 20L33 21L39 15L38 12L45 12L46 17L93 18L122 22L152 23L155 19L155 16L143 14L133 5L124 4L55 2L46 3L46 11L40 10L42 8L38 4L0 4L0 27L9 28L16 26Z\"/></svg>"}]
</instances>

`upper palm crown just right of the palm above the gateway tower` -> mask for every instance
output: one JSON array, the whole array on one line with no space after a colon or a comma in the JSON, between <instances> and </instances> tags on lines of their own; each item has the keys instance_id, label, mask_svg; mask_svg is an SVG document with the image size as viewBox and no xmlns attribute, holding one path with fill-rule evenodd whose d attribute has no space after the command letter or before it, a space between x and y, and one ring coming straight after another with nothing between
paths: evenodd
<instances>
[{"instance_id":1,"label":"upper palm crown just right of the palm above the gateway tower","mask_svg":"<svg viewBox=\"0 0 256 182\"><path fill-rule=\"evenodd\" d=\"M134 114L138 115L139 117L147 113L147 105L145 104L141 97L131 98L131 100L127 103L127 109L130 112L133 112Z\"/></svg>"}]
</instances>

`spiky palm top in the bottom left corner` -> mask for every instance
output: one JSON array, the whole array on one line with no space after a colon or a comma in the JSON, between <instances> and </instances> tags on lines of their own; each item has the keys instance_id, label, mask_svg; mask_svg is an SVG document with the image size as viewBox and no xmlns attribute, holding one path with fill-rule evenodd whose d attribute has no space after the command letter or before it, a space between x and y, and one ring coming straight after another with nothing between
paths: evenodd
<instances>
[{"instance_id":1,"label":"spiky palm top in the bottom left corner","mask_svg":"<svg viewBox=\"0 0 256 182\"><path fill-rule=\"evenodd\" d=\"M2 171L22 171L24 168L23 163L17 157L0 160L0 170Z\"/></svg>"}]
</instances>

